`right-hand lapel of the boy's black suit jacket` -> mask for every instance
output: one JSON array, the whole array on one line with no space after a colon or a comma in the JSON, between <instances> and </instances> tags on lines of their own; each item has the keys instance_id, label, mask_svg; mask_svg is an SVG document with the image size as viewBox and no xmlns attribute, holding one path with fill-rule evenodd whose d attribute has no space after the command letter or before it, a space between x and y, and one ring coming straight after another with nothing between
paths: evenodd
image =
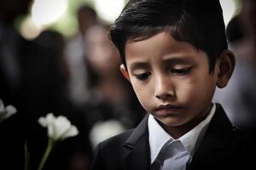
<instances>
[{"instance_id":1,"label":"right-hand lapel of the boy's black suit jacket","mask_svg":"<svg viewBox=\"0 0 256 170\"><path fill-rule=\"evenodd\" d=\"M195 151L195 155L190 164L191 169L198 167L214 167L219 165L225 157L232 154L229 150L236 127L233 127L228 117L224 113L221 105L216 105L216 112L207 129L200 147Z\"/></svg>"}]
</instances>

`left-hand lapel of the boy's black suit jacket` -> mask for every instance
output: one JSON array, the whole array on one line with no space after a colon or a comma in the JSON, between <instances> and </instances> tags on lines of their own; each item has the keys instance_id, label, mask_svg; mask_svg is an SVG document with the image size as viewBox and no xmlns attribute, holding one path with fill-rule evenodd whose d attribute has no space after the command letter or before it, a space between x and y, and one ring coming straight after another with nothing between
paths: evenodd
<instances>
[{"instance_id":1,"label":"left-hand lapel of the boy's black suit jacket","mask_svg":"<svg viewBox=\"0 0 256 170\"><path fill-rule=\"evenodd\" d=\"M124 164L126 170L149 169L148 115L125 141Z\"/></svg>"}]
</instances>

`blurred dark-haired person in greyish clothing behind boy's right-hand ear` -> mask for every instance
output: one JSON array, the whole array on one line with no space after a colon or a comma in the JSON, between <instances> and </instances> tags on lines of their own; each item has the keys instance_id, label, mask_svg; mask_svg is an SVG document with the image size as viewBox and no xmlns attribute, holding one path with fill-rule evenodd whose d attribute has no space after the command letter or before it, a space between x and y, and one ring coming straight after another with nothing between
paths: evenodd
<instances>
[{"instance_id":1,"label":"blurred dark-haired person in greyish clothing behind boy's right-hand ear","mask_svg":"<svg viewBox=\"0 0 256 170\"><path fill-rule=\"evenodd\" d=\"M241 14L230 20L226 35L236 56L236 68L227 88L217 89L214 99L224 105L231 122L252 129L256 123L256 67L249 55L252 52L247 51L249 47L241 26Z\"/></svg>"}]
</instances>

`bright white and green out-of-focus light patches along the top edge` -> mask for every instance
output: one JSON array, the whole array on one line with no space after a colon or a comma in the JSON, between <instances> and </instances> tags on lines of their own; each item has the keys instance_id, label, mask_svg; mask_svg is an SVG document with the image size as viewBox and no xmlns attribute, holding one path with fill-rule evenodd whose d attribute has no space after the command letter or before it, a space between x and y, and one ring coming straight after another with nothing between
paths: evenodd
<instances>
[{"instance_id":1,"label":"bright white and green out-of-focus light patches along the top edge","mask_svg":"<svg viewBox=\"0 0 256 170\"><path fill-rule=\"evenodd\" d=\"M26 39L38 37L45 29L61 32L72 37L79 29L77 12L86 4L94 8L99 20L112 24L128 0L31 0L27 14L15 19L15 26ZM227 24L241 8L240 0L220 0Z\"/></svg>"}]
</instances>

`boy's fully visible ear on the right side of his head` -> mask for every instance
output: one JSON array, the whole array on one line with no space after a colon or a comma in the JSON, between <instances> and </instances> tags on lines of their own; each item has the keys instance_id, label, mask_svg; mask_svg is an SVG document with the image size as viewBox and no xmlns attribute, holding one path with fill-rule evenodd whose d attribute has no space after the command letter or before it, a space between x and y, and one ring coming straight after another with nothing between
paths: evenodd
<instances>
[{"instance_id":1,"label":"boy's fully visible ear on the right side of his head","mask_svg":"<svg viewBox=\"0 0 256 170\"><path fill-rule=\"evenodd\" d=\"M235 55L230 50L224 50L218 57L218 88L224 88L232 76L236 65Z\"/></svg>"}]
</instances>

